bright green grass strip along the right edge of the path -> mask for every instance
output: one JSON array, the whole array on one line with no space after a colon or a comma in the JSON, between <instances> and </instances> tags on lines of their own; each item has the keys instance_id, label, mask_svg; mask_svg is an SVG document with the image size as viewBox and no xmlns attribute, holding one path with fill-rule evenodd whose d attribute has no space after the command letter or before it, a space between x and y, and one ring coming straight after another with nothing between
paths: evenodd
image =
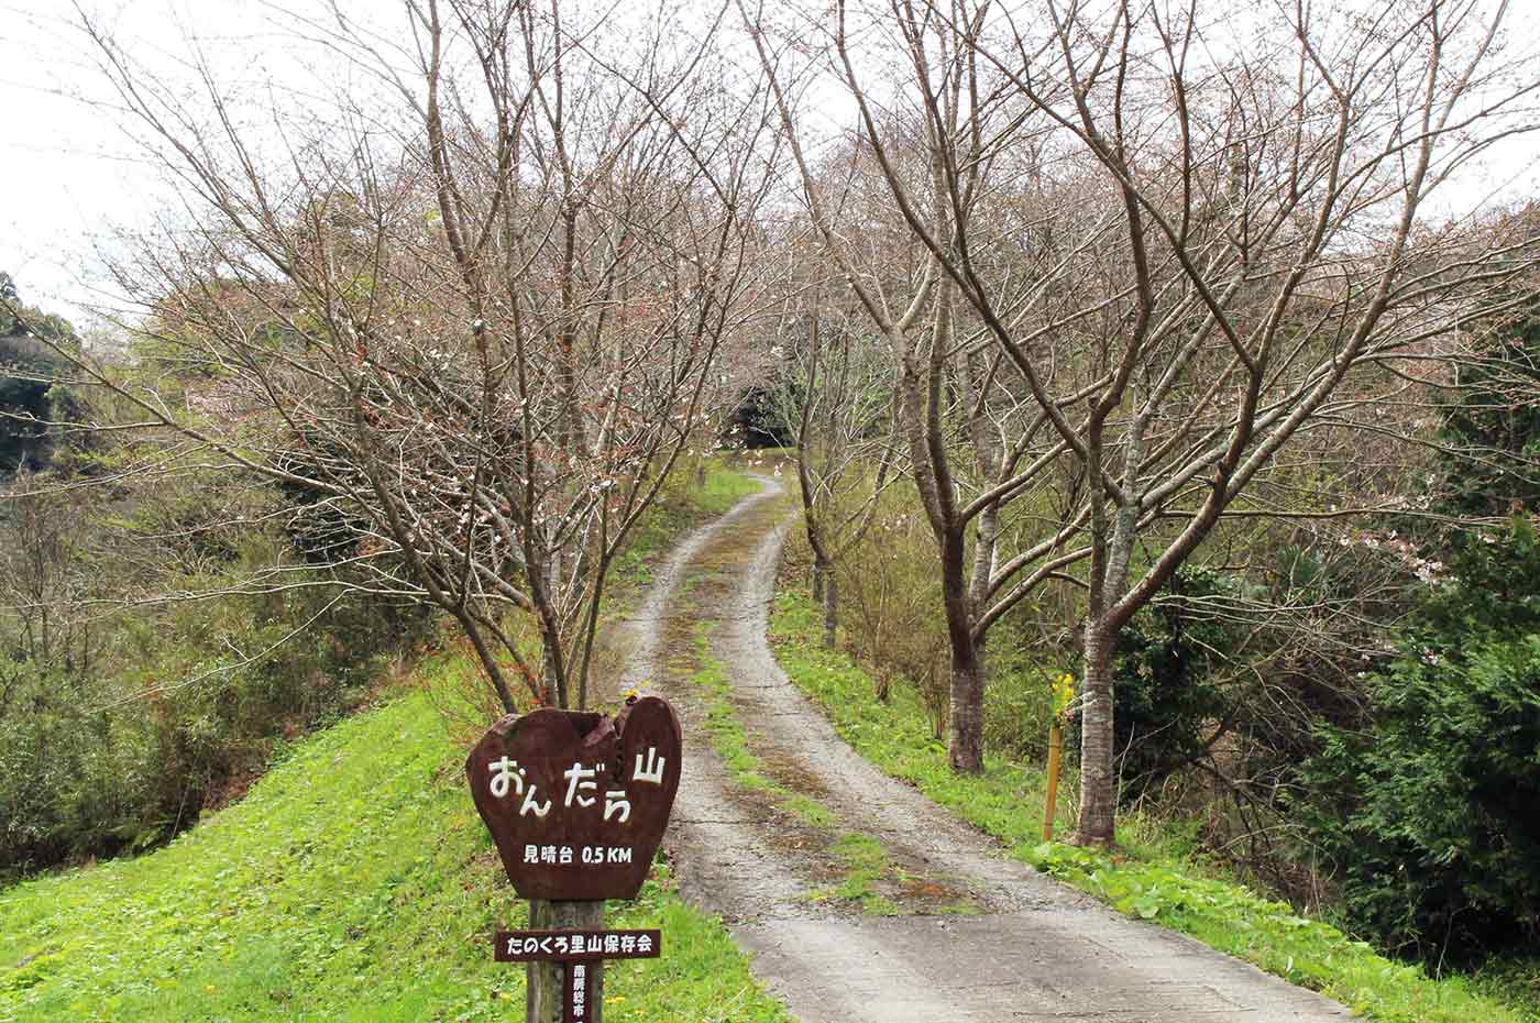
<instances>
[{"instance_id":1,"label":"bright green grass strip along the right edge of the path","mask_svg":"<svg viewBox=\"0 0 1540 1023\"><path fill-rule=\"evenodd\" d=\"M822 650L822 618L805 596L782 592L770 622L781 667L829 715L835 729L887 773L913 783L1001 840L1013 857L1123 912L1189 934L1261 969L1314 988L1378 1023L1535 1023L1498 981L1434 980L1421 968L1377 955L1341 931L1297 915L1243 884L1178 855L1180 841L1150 841L1147 827L1120 826L1116 855L1043 843L1043 780L1035 767L989 756L981 775L947 767L946 747L919 699L895 687L873 698L872 678L841 652ZM1067 829L1070 821L1058 821ZM1144 833L1140 833L1144 832Z\"/></svg>"}]
</instances>

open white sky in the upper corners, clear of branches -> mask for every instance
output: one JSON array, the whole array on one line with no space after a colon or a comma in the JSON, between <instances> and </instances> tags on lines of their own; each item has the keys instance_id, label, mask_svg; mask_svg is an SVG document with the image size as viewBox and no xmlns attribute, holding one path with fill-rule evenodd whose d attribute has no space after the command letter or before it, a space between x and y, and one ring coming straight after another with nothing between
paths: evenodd
<instances>
[{"instance_id":1,"label":"open white sky in the upper corners, clear of branches","mask_svg":"<svg viewBox=\"0 0 1540 1023\"><path fill-rule=\"evenodd\" d=\"M157 65L176 62L192 32L226 57L229 66L220 69L236 79L257 83L299 66L260 0L80 2ZM350 6L377 12L380 22L400 18L399 0ZM111 96L74 20L72 0L0 0L0 270L15 277L25 300L79 322L92 302L111 304L102 257L114 228L145 226L168 190L119 128L116 111L102 106ZM1511 26L1515 42L1540 46L1540 0L1514 0ZM1535 136L1508 145L1451 200L1469 206L1540 196L1537 153Z\"/></svg>"}]
</instances>

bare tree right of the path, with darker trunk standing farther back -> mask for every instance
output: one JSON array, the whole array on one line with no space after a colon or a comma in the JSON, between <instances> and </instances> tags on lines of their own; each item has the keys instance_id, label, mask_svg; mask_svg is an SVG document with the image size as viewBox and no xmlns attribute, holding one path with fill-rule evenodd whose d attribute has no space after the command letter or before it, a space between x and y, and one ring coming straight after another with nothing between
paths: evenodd
<instances>
[{"instance_id":1,"label":"bare tree right of the path, with darker trunk standing farther back","mask_svg":"<svg viewBox=\"0 0 1540 1023\"><path fill-rule=\"evenodd\" d=\"M958 45L927 48L929 37L942 28L933 20L893 11L862 23L867 39L881 40L884 52L906 55L902 74L916 83L913 94L899 92L882 108L869 105L845 46L841 9L825 55L838 83L862 100L852 165L882 193L879 202L873 193L865 203L850 203L849 186L830 183L845 179L816 165L798 120L798 89L808 89L807 79L818 71L816 62L790 66L792 55L805 48L804 32L776 35L762 9L739 5L739 11L772 79L822 250L893 364L895 428L930 524L941 576L952 662L949 760L956 770L976 772L984 763L989 630L1038 585L1086 556L1084 547L1072 544L1086 515L1083 508L1043 515L1049 484L1063 482L1055 470L1069 447L1049 428L1049 416L1033 396L1007 377L1009 364L992 351L969 307L959 305L958 280L929 245L938 236L950 237L959 222L972 223L973 216L993 222L1003 236L1029 230L1046 216L1044 203L1060 197L1044 196L1030 174L998 196L989 194L987 160L958 162L958 139L972 132L978 142L987 125L983 114L972 128L967 123L970 51ZM956 194L949 191L952 185ZM1069 251L1087 243L1081 233L1064 234ZM912 254L907 273L899 274L892 262L895 251L906 248ZM1030 254L1026 265L1016 260L1001 263L1001 270L1012 280L1036 282L1043 277L1032 270L1038 259L1046 256ZM1067 254L1055 259L1067 260ZM902 310L896 308L898 296ZM1021 541L1009 556L1001 556L1003 530Z\"/></svg>"}]
</instances>

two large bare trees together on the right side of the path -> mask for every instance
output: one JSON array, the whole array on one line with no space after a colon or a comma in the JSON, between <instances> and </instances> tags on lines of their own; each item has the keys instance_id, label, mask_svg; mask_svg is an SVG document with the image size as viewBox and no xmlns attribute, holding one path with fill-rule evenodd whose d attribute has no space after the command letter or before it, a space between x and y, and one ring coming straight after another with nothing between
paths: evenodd
<instances>
[{"instance_id":1,"label":"two large bare trees together on the right side of the path","mask_svg":"<svg viewBox=\"0 0 1540 1023\"><path fill-rule=\"evenodd\" d=\"M1398 393L1463 320L1522 302L1529 225L1438 226L1424 210L1531 126L1534 75L1502 52L1502 11L1463 0L1223 18L1190 2L893 0L790 31L739 9L824 251L895 364L944 581L952 763L981 764L990 626L1073 579L1080 837L1107 843L1120 629L1280 451ZM853 102L922 243L902 308L810 154L810 79ZM1040 490L1056 521L999 556L1001 516Z\"/></svg>"}]
</instances>

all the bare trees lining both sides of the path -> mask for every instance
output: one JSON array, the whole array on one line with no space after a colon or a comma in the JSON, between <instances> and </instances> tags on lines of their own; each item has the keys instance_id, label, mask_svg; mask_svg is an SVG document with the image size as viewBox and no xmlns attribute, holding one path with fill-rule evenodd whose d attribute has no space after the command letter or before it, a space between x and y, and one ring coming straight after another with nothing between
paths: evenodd
<instances>
[{"instance_id":1,"label":"all the bare trees lining both sides of the path","mask_svg":"<svg viewBox=\"0 0 1540 1023\"><path fill-rule=\"evenodd\" d=\"M978 770L992 629L1072 589L1106 843L1120 630L1226 516L1321 512L1314 467L1532 293L1532 219L1431 214L1532 126L1502 5L1210 6L296 12L373 86L273 129L88 26L194 214L122 268L132 330L205 382L72 357L310 495L353 584L442 607L513 707L585 703L713 364L779 345L830 632L832 564L912 485Z\"/></svg>"}]
</instances>

